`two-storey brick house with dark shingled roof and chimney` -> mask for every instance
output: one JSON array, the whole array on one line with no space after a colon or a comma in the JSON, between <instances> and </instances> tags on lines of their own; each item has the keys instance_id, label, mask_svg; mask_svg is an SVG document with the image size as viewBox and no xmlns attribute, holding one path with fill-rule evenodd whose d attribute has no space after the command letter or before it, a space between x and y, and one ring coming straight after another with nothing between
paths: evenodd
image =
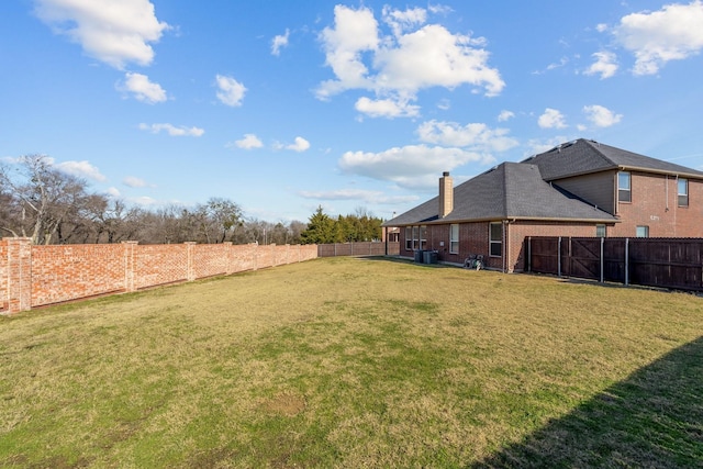
<instances>
[{"instance_id":1,"label":"two-storey brick house with dark shingled roof and chimney","mask_svg":"<svg viewBox=\"0 0 703 469\"><path fill-rule=\"evenodd\" d=\"M580 138L456 188L445 172L437 197L383 226L403 257L522 271L528 236L703 237L703 171Z\"/></svg>"}]
</instances>

